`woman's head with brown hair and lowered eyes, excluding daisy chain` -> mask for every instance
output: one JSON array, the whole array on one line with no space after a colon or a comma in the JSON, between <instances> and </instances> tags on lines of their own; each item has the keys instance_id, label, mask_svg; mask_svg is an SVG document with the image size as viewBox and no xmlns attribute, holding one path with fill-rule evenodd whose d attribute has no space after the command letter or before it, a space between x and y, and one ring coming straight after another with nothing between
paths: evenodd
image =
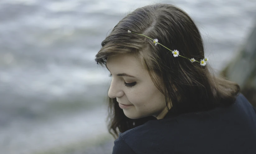
<instances>
[{"instance_id":1,"label":"woman's head with brown hair and lowered eyes, excluding daisy chain","mask_svg":"<svg viewBox=\"0 0 256 154\"><path fill-rule=\"evenodd\" d=\"M159 113L170 109L170 104L173 114L178 115L214 108L224 97L229 104L238 93L238 85L214 77L209 65L202 67L188 59L174 57L163 46L155 46L147 37L128 33L128 30L157 38L162 45L178 50L185 57L198 61L204 58L200 32L180 8L154 4L125 16L101 43L95 58L97 64L107 64L113 75L109 88L109 131L112 129L117 134L117 128L123 132L156 119ZM139 79L117 76L118 73ZM125 81L136 81L136 85L126 87ZM118 102L133 106L121 109Z\"/></svg>"}]
</instances>

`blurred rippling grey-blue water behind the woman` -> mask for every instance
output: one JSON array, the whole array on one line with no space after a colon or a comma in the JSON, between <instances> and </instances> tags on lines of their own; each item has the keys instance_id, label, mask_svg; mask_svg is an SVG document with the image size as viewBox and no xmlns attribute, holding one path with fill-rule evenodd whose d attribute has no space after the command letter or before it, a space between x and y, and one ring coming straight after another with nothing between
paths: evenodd
<instances>
[{"instance_id":1,"label":"blurred rippling grey-blue water behind the woman","mask_svg":"<svg viewBox=\"0 0 256 154\"><path fill-rule=\"evenodd\" d=\"M0 153L111 153L110 78L95 55L128 12L175 4L221 70L255 24L255 0L0 0Z\"/></svg>"}]
</instances>

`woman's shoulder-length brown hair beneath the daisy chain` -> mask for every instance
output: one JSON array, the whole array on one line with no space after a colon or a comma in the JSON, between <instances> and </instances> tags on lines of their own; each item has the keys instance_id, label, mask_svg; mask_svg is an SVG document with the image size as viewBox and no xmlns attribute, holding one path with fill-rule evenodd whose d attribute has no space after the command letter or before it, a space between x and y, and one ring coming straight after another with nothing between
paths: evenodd
<instances>
[{"instance_id":1,"label":"woman's shoulder-length brown hair beneath the daisy chain","mask_svg":"<svg viewBox=\"0 0 256 154\"><path fill-rule=\"evenodd\" d=\"M171 108L174 109L172 114L175 115L229 106L235 101L240 86L223 77L216 77L209 64L201 66L200 63L174 57L163 46L155 46L147 37L128 33L128 30L157 38L167 48L176 49L181 55L200 61L204 58L201 34L191 17L182 9L161 3L137 8L119 21L101 43L102 48L95 61L104 66L109 56L135 55L155 86L165 95L168 110L171 100ZM108 110L108 130L115 139L119 132L156 120L153 116L139 119L126 117L116 98L109 98Z\"/></svg>"}]
</instances>

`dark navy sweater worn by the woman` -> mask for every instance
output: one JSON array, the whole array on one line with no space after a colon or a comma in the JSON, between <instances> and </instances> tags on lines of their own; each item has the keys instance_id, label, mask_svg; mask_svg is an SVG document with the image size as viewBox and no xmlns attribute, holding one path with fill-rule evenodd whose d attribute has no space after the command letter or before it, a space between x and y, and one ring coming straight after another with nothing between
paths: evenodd
<instances>
[{"instance_id":1,"label":"dark navy sweater worn by the woman","mask_svg":"<svg viewBox=\"0 0 256 154\"><path fill-rule=\"evenodd\" d=\"M256 154L256 110L240 93L227 108L168 112L119 133L112 154Z\"/></svg>"}]
</instances>

